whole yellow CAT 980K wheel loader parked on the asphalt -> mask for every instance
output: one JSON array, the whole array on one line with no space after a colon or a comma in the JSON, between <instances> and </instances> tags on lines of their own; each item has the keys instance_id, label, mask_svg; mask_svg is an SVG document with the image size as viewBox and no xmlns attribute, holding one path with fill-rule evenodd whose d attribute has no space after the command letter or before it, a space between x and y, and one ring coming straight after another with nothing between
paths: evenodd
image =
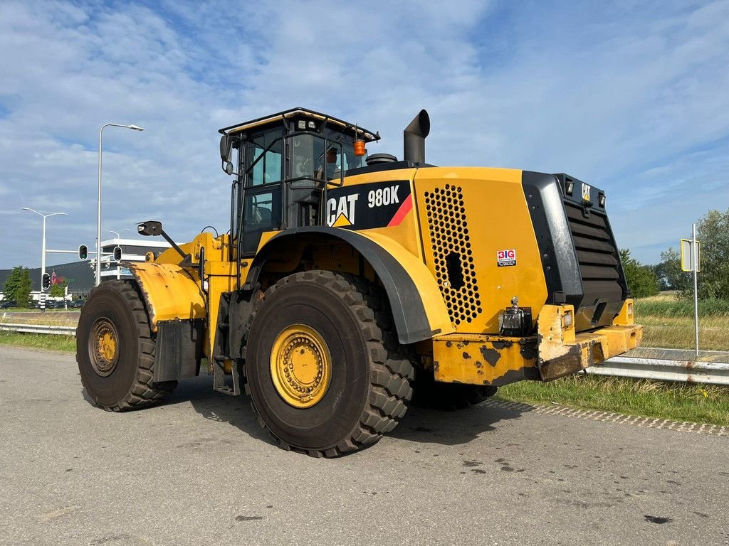
<instances>
[{"instance_id":1,"label":"whole yellow CAT 980K wheel loader parked on the asphalt","mask_svg":"<svg viewBox=\"0 0 729 546\"><path fill-rule=\"evenodd\" d=\"M292 108L220 130L230 229L126 264L77 328L90 398L144 408L198 376L250 396L285 449L339 456L392 430L413 397L477 403L633 349L606 194L566 174L437 167L426 111L404 154L378 132ZM204 368L203 368L204 369Z\"/></svg>"}]
</instances>

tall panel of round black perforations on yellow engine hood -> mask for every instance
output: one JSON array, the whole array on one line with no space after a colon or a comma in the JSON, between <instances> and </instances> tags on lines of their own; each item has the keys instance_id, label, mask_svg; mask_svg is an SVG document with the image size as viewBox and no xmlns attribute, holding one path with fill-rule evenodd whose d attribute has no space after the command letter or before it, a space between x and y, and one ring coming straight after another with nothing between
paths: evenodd
<instances>
[{"instance_id":1,"label":"tall panel of round black perforations on yellow engine hood","mask_svg":"<svg viewBox=\"0 0 729 546\"><path fill-rule=\"evenodd\" d=\"M468 234L463 191L446 184L425 192L435 274L454 325L470 323L481 312L476 269Z\"/></svg>"}]
</instances>

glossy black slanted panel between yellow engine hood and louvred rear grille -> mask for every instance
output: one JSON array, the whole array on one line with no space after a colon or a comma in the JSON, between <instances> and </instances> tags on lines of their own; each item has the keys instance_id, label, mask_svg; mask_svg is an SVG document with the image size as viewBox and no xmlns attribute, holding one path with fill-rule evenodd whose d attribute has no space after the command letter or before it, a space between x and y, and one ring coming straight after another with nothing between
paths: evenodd
<instances>
[{"instance_id":1,"label":"glossy black slanted panel between yellow engine hood and louvred rear grille","mask_svg":"<svg viewBox=\"0 0 729 546\"><path fill-rule=\"evenodd\" d=\"M522 173L522 185L539 253L542 255L542 268L547 281L545 304L569 304L577 310L584 296L580 264L574 252L557 178L525 170Z\"/></svg>"}]
</instances>

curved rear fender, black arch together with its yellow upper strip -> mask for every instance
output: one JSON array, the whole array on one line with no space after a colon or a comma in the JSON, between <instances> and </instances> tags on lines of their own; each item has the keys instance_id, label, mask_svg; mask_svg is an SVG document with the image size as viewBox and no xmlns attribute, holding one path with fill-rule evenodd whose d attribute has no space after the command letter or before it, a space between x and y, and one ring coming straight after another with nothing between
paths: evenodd
<instances>
[{"instance_id":1,"label":"curved rear fender, black arch together with its yellow upper strip","mask_svg":"<svg viewBox=\"0 0 729 546\"><path fill-rule=\"evenodd\" d=\"M387 293L401 344L453 332L448 309L426 265L402 245L380 234L328 226L286 229L271 237L258 250L243 288L254 288L270 251L289 240L295 242L301 235L341 240L355 248L369 262Z\"/></svg>"}]
</instances>

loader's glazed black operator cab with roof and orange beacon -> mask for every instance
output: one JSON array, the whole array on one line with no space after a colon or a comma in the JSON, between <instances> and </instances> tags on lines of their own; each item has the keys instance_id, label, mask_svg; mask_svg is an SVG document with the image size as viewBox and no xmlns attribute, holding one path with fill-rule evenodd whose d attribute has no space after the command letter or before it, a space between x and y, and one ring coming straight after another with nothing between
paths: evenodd
<instances>
[{"instance_id":1,"label":"loader's glazed black operator cab with roof and orange beacon","mask_svg":"<svg viewBox=\"0 0 729 546\"><path fill-rule=\"evenodd\" d=\"M241 257L256 252L264 232L324 223L327 186L341 186L346 171L365 167L364 145L380 140L376 132L305 108L219 132L222 168L236 175L230 227Z\"/></svg>"}]
</instances>

